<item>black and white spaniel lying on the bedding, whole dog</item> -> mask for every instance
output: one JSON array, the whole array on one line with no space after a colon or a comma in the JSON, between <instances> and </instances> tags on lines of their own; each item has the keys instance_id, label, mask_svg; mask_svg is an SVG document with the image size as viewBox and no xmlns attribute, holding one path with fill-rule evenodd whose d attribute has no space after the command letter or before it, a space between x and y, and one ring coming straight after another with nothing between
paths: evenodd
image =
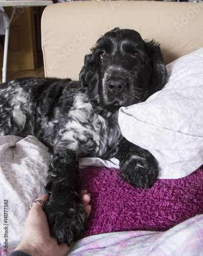
<instances>
[{"instance_id":1,"label":"black and white spaniel lying on the bedding, whole dog","mask_svg":"<svg viewBox=\"0 0 203 256\"><path fill-rule=\"evenodd\" d=\"M166 78L160 46L134 30L116 28L85 56L80 82L31 77L0 86L0 136L33 135L52 151L44 211L59 243L70 246L85 231L79 157L117 157L124 180L152 186L157 162L122 137L118 110L146 100Z\"/></svg>"}]
</instances>

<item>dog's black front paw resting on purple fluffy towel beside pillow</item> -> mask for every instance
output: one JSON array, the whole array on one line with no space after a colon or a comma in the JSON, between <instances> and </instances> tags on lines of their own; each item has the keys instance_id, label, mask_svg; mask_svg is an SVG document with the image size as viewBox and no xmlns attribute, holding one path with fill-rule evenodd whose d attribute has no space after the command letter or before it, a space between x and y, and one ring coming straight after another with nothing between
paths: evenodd
<instances>
[{"instance_id":1,"label":"dog's black front paw resting on purple fluffy towel beside pillow","mask_svg":"<svg viewBox=\"0 0 203 256\"><path fill-rule=\"evenodd\" d=\"M143 150L139 155L128 155L120 161L120 176L137 187L150 188L159 174L156 159Z\"/></svg>"}]
</instances>

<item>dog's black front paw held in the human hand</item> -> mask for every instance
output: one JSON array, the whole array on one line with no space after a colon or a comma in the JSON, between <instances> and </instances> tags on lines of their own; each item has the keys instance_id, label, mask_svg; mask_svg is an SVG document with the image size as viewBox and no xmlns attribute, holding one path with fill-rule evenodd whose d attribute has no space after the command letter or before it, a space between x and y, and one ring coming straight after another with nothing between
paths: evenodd
<instances>
[{"instance_id":1,"label":"dog's black front paw held in the human hand","mask_svg":"<svg viewBox=\"0 0 203 256\"><path fill-rule=\"evenodd\" d=\"M47 215L51 236L59 244L65 242L71 246L85 232L87 214L80 200L71 201L71 197L51 196L43 207Z\"/></svg>"}]
</instances>

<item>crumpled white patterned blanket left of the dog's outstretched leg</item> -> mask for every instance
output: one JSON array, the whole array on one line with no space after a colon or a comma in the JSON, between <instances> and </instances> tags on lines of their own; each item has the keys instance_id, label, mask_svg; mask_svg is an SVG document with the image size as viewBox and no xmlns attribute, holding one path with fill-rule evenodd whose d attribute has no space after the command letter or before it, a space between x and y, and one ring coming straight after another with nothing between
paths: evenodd
<instances>
[{"instance_id":1,"label":"crumpled white patterned blanket left of the dog's outstretched leg","mask_svg":"<svg viewBox=\"0 0 203 256\"><path fill-rule=\"evenodd\" d=\"M22 238L29 205L44 194L49 160L48 148L35 137L0 137L1 209L8 201L8 219L3 210L1 214L1 244L4 224L8 224L9 242Z\"/></svg>"}]
</instances>

